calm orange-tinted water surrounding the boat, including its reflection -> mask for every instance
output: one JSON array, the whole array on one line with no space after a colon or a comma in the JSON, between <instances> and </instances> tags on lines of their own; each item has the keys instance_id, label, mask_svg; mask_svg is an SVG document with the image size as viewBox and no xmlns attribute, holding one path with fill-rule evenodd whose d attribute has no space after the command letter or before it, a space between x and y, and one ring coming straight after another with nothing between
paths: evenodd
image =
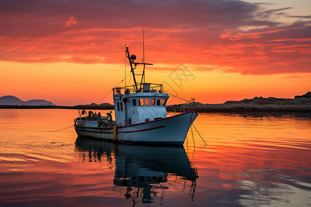
<instances>
[{"instance_id":1,"label":"calm orange-tinted water surrounding the boat, including its reflection","mask_svg":"<svg viewBox=\"0 0 311 207\"><path fill-rule=\"evenodd\" d=\"M310 118L200 114L207 146L164 148L53 131L76 116L0 109L1 207L311 206Z\"/></svg>"}]
</instances>

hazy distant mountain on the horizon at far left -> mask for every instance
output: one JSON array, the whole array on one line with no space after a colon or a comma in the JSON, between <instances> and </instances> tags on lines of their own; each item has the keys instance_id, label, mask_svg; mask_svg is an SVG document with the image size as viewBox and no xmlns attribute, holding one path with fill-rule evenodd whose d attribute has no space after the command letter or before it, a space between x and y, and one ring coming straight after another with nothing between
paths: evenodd
<instances>
[{"instance_id":1,"label":"hazy distant mountain on the horizon at far left","mask_svg":"<svg viewBox=\"0 0 311 207\"><path fill-rule=\"evenodd\" d=\"M8 106L55 106L51 101L46 101L44 99L32 99L29 101L21 101L21 99L14 96L4 96L0 97L0 105Z\"/></svg>"}]
</instances>

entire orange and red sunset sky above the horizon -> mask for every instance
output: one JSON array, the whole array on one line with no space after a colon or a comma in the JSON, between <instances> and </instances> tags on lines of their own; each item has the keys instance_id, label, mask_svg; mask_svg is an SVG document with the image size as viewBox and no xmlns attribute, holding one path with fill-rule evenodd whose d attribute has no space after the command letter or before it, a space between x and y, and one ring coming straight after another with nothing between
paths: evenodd
<instances>
[{"instance_id":1,"label":"entire orange and red sunset sky above the horizon","mask_svg":"<svg viewBox=\"0 0 311 207\"><path fill-rule=\"evenodd\" d=\"M2 1L0 97L99 103L124 78L125 41L142 59L144 28L154 64L146 80L174 95L293 98L311 89L306 8L311 1Z\"/></svg>"}]
</instances>

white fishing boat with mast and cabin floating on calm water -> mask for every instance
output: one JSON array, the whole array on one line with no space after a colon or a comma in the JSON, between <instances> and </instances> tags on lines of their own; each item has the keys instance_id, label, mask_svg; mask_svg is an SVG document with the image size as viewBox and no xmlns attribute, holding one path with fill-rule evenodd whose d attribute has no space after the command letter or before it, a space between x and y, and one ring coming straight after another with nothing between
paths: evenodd
<instances>
[{"instance_id":1,"label":"white fishing boat with mast and cabin floating on calm water","mask_svg":"<svg viewBox=\"0 0 311 207\"><path fill-rule=\"evenodd\" d=\"M144 81L145 67L152 64L144 63L144 59L136 62L136 56L129 53L129 46L125 52L134 84L113 88L115 120L112 112L102 116L100 112L83 110L75 119L77 135L122 143L182 145L198 113L188 111L167 116L169 94L164 92L162 84ZM138 65L143 67L140 75L135 74ZM137 76L141 76L140 82Z\"/></svg>"}]
</instances>

